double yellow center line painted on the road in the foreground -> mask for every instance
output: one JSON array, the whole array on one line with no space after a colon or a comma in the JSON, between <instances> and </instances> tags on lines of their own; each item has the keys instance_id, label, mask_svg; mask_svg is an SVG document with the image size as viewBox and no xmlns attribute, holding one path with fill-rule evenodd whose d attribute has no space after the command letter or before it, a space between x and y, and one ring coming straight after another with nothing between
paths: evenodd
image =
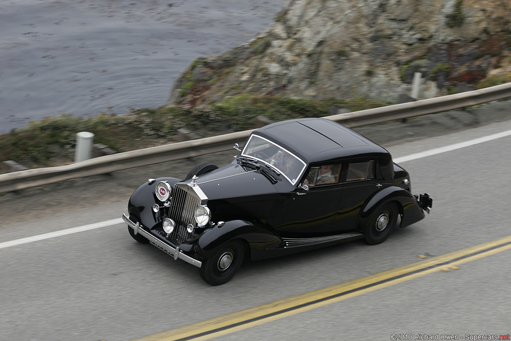
<instances>
[{"instance_id":1,"label":"double yellow center line painted on the road in the foreground","mask_svg":"<svg viewBox=\"0 0 511 341\"><path fill-rule=\"evenodd\" d=\"M511 249L511 236L468 247L443 256L424 259L413 264L383 271L376 275L363 277L287 299L277 300L258 307L215 317L208 321L147 336L136 341L199 341L211 339L334 302L339 302L366 292L409 281L435 271L456 269L459 264L490 256L508 249Z\"/></svg>"}]
</instances>

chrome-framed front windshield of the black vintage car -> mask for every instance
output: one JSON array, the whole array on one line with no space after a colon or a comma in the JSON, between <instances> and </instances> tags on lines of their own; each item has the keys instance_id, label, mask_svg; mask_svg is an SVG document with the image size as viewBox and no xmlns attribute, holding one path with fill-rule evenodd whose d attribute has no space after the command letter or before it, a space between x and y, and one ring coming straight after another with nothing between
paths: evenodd
<instances>
[{"instance_id":1,"label":"chrome-framed front windshield of the black vintage car","mask_svg":"<svg viewBox=\"0 0 511 341\"><path fill-rule=\"evenodd\" d=\"M256 158L277 168L293 185L306 167L305 162L293 153L258 135L250 136L241 155Z\"/></svg>"}]
</instances>

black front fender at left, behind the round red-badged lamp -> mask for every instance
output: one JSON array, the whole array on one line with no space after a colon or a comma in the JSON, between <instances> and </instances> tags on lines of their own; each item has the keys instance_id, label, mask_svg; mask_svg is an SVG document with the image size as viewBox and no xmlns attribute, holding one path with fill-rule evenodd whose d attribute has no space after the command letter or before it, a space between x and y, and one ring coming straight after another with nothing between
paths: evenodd
<instances>
[{"instance_id":1,"label":"black front fender at left, behind the round red-badged lamp","mask_svg":"<svg viewBox=\"0 0 511 341\"><path fill-rule=\"evenodd\" d=\"M148 228L152 228L156 223L161 221L166 211L160 210L159 212L154 212L152 210L155 203L161 206L161 201L158 200L155 192L156 185L158 185L159 181L168 181L171 188L174 188L174 185L181 181L181 179L175 177L159 177L152 183L148 181L138 187L133 194L131 194L128 201L129 216Z\"/></svg>"}]
</instances>

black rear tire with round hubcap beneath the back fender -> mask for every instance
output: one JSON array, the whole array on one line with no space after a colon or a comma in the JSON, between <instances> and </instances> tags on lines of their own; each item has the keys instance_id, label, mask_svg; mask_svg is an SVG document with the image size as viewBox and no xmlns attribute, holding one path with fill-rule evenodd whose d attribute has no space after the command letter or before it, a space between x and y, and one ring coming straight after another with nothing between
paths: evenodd
<instances>
[{"instance_id":1,"label":"black rear tire with round hubcap beneath the back fender","mask_svg":"<svg viewBox=\"0 0 511 341\"><path fill-rule=\"evenodd\" d=\"M364 231L365 240L370 245L383 242L388 238L398 221L398 206L387 202L380 206L371 216L370 223Z\"/></svg>"}]
</instances>

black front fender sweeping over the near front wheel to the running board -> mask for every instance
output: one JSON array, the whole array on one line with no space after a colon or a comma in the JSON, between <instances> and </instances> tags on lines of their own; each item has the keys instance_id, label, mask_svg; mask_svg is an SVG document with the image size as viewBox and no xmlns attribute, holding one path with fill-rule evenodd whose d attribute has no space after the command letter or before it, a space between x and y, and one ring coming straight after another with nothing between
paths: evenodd
<instances>
[{"instance_id":1,"label":"black front fender sweeping over the near front wheel to the running board","mask_svg":"<svg viewBox=\"0 0 511 341\"><path fill-rule=\"evenodd\" d=\"M266 258L268 249L282 244L282 239L266 226L231 220L204 231L197 242L197 254L201 259L213 257L224 243L233 239L242 239L248 244L252 260Z\"/></svg>"}]
</instances>

